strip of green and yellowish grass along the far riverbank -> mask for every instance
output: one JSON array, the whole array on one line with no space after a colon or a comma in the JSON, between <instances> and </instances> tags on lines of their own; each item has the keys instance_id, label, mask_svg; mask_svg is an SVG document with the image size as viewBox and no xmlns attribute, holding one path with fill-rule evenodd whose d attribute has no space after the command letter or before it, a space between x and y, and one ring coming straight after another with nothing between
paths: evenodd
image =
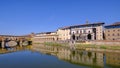
<instances>
[{"instance_id":1,"label":"strip of green and yellowish grass along the far riverbank","mask_svg":"<svg viewBox=\"0 0 120 68\"><path fill-rule=\"evenodd\" d=\"M77 50L79 49L104 49L104 50L120 50L119 45L95 45L95 44L86 44L86 43L75 43L75 44L69 44L69 43L57 43L57 42L45 42L45 43L39 43L42 45L48 45L48 46L63 46L68 48L75 48Z\"/></svg>"}]
</instances>

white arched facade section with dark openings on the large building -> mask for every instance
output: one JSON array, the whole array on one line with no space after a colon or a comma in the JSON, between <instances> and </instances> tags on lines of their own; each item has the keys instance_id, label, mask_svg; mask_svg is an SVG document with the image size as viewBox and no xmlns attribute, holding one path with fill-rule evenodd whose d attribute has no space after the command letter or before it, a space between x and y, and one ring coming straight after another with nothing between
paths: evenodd
<instances>
[{"instance_id":1,"label":"white arched facade section with dark openings on the large building","mask_svg":"<svg viewBox=\"0 0 120 68\"><path fill-rule=\"evenodd\" d=\"M73 28L71 38L73 40L95 40L95 28Z\"/></svg>"}]
</instances>

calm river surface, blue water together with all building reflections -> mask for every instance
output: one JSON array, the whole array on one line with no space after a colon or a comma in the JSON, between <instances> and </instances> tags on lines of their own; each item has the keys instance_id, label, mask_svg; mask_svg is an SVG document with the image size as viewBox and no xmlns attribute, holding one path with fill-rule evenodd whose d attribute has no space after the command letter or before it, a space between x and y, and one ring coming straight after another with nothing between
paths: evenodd
<instances>
[{"instance_id":1,"label":"calm river surface, blue water together with all building reflections","mask_svg":"<svg viewBox=\"0 0 120 68\"><path fill-rule=\"evenodd\" d=\"M120 52L58 46L0 49L0 68L120 68Z\"/></svg>"}]
</instances>

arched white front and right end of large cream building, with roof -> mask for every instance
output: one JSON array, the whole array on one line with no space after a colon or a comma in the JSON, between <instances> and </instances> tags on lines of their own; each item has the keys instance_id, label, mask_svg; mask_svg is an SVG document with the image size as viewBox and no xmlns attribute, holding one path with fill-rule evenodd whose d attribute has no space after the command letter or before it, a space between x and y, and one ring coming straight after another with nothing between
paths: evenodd
<instances>
[{"instance_id":1,"label":"arched white front and right end of large cream building, with roof","mask_svg":"<svg viewBox=\"0 0 120 68\"><path fill-rule=\"evenodd\" d=\"M104 23L71 26L71 38L74 40L103 40Z\"/></svg>"}]
</instances>

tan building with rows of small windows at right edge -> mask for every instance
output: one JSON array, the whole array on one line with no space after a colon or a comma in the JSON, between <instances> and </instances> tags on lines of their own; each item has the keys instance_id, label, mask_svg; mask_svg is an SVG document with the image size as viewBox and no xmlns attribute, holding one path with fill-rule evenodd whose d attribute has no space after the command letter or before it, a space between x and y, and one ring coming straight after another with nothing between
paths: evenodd
<instances>
[{"instance_id":1,"label":"tan building with rows of small windows at right edge","mask_svg":"<svg viewBox=\"0 0 120 68\"><path fill-rule=\"evenodd\" d=\"M120 23L105 26L106 40L120 40Z\"/></svg>"}]
</instances>

